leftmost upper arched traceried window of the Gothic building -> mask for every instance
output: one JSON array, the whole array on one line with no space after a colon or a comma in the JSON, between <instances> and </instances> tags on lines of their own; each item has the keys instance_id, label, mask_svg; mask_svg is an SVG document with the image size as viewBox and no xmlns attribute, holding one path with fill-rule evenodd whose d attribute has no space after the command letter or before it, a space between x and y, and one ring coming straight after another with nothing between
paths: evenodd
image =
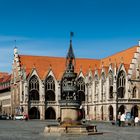
<instances>
[{"instance_id":1,"label":"leftmost upper arched traceried window of the Gothic building","mask_svg":"<svg viewBox=\"0 0 140 140\"><path fill-rule=\"evenodd\" d=\"M29 101L39 100L39 81L37 76L32 76L29 81Z\"/></svg>"}]
</instances>

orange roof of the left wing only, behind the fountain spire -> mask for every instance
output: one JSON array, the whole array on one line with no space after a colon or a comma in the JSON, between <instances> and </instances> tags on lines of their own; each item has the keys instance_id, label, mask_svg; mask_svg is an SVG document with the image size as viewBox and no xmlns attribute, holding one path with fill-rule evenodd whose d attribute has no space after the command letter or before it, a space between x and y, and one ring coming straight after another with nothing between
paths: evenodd
<instances>
[{"instance_id":1,"label":"orange roof of the left wing only, behind the fountain spire","mask_svg":"<svg viewBox=\"0 0 140 140\"><path fill-rule=\"evenodd\" d=\"M54 72L56 79L60 79L63 75L66 65L66 59L63 57L49 57L49 56L29 56L19 55L21 66L26 68L27 75L35 68L41 79L45 78L45 73L51 68ZM100 60L96 59L76 59L76 72L82 69L82 72L86 74L90 66L99 66Z\"/></svg>"}]
</instances>

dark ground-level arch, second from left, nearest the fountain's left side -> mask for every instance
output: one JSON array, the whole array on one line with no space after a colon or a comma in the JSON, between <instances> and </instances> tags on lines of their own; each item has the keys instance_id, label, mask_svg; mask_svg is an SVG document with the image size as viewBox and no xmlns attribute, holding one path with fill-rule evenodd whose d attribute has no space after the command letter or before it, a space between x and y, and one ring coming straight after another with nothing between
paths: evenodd
<instances>
[{"instance_id":1,"label":"dark ground-level arch, second from left, nearest the fountain's left side","mask_svg":"<svg viewBox=\"0 0 140 140\"><path fill-rule=\"evenodd\" d=\"M52 107L46 109L45 119L56 119L56 112Z\"/></svg>"}]
</instances>

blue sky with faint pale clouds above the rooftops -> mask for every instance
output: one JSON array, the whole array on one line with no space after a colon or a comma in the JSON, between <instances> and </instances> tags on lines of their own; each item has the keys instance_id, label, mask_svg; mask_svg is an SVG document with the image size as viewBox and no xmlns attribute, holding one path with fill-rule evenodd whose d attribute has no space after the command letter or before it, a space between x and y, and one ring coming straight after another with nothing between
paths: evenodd
<instances>
[{"instance_id":1,"label":"blue sky with faint pale clouds above the rooftops","mask_svg":"<svg viewBox=\"0 0 140 140\"><path fill-rule=\"evenodd\" d=\"M104 58L140 40L140 0L0 0L0 71L19 54ZM16 43L15 43L16 40Z\"/></svg>"}]
</instances>

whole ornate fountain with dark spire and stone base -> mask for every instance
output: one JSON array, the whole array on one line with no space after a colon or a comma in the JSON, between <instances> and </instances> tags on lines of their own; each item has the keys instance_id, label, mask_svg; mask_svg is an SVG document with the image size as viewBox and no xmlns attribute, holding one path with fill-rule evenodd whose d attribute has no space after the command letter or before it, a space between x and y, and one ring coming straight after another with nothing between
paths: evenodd
<instances>
[{"instance_id":1,"label":"whole ornate fountain with dark spire and stone base","mask_svg":"<svg viewBox=\"0 0 140 140\"><path fill-rule=\"evenodd\" d=\"M72 49L71 34L70 47L66 56L66 70L61 80L60 125L48 125L44 129L45 135L99 134L96 125L81 123L81 117L79 116L81 102L77 94L77 73L74 72L74 67L75 56Z\"/></svg>"}]
</instances>

